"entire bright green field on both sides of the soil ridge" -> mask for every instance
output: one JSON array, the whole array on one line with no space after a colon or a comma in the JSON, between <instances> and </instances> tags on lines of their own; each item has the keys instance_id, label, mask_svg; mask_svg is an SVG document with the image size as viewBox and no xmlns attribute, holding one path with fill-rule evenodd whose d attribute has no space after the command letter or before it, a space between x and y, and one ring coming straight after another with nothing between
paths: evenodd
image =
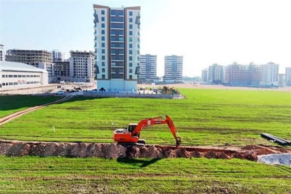
<instances>
[{"instance_id":1,"label":"entire bright green field on both sides of the soil ridge","mask_svg":"<svg viewBox=\"0 0 291 194\"><path fill-rule=\"evenodd\" d=\"M187 99L71 98L1 126L0 139L110 143L114 129L165 114L173 119L184 146L272 144L262 139L260 132L291 137L290 93L180 91ZM149 144L175 144L165 125L144 129L141 138ZM238 159L0 157L0 193L290 194L290 191L290 167Z\"/></svg>"}]
</instances>

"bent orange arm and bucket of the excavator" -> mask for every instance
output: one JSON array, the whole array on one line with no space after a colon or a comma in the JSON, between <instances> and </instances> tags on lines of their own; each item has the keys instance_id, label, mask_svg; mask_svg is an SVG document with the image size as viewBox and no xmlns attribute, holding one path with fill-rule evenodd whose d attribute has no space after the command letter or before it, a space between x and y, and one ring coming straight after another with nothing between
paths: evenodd
<instances>
[{"instance_id":1,"label":"bent orange arm and bucket of the excavator","mask_svg":"<svg viewBox=\"0 0 291 194\"><path fill-rule=\"evenodd\" d=\"M167 124L169 129L171 130L174 138L176 139L176 148L178 148L181 144L181 138L178 134L178 131L172 121L172 119L166 115L166 119L162 119L162 116L154 117L154 118L146 118L139 122L135 129L131 132L132 136L138 137L140 135L140 132L144 127L150 126L150 125L162 125L162 124Z\"/></svg>"}]
</instances>

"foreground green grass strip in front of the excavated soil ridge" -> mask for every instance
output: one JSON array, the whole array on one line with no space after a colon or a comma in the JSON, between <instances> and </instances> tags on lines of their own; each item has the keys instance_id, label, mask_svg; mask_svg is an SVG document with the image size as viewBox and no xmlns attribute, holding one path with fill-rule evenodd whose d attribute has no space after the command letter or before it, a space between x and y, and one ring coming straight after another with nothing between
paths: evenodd
<instances>
[{"instance_id":1,"label":"foreground green grass strip in front of the excavated soil ridge","mask_svg":"<svg viewBox=\"0 0 291 194\"><path fill-rule=\"evenodd\" d=\"M291 168L246 160L0 157L0 193L288 194Z\"/></svg>"}]
</instances>

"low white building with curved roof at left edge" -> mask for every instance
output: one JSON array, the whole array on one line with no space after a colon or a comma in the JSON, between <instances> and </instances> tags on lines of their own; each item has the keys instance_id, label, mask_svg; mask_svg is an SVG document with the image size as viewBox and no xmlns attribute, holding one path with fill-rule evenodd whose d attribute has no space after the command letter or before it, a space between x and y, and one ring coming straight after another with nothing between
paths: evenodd
<instances>
[{"instance_id":1,"label":"low white building with curved roof at left edge","mask_svg":"<svg viewBox=\"0 0 291 194\"><path fill-rule=\"evenodd\" d=\"M48 71L23 63L0 61L0 89L30 88L49 83Z\"/></svg>"}]
</instances>

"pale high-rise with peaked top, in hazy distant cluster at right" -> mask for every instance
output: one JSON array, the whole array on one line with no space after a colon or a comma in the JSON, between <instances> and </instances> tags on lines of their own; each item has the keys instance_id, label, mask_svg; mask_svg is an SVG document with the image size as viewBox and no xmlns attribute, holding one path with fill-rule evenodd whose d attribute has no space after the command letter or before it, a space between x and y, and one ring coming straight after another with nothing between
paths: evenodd
<instances>
[{"instance_id":1,"label":"pale high-rise with peaked top, in hazy distant cluster at right","mask_svg":"<svg viewBox=\"0 0 291 194\"><path fill-rule=\"evenodd\" d=\"M278 85L279 65L272 62L261 65L260 85L276 86Z\"/></svg>"}]
</instances>

